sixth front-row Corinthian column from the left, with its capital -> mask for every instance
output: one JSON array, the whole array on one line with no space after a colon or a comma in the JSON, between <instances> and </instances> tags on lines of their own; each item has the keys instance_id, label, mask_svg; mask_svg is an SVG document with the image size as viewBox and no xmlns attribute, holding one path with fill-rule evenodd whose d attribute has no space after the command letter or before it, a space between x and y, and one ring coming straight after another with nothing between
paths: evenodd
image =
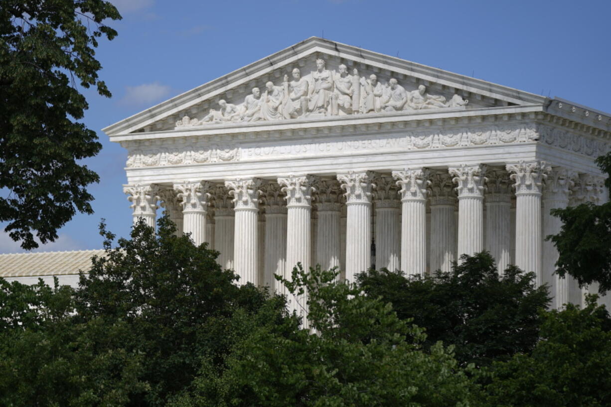
<instances>
[{"instance_id":1,"label":"sixth front-row Corinthian column from the left, with its capital","mask_svg":"<svg viewBox=\"0 0 611 407\"><path fill-rule=\"evenodd\" d=\"M426 188L429 171L407 168L393 171L401 188L401 270L410 276L426 273Z\"/></svg>"}]
</instances>

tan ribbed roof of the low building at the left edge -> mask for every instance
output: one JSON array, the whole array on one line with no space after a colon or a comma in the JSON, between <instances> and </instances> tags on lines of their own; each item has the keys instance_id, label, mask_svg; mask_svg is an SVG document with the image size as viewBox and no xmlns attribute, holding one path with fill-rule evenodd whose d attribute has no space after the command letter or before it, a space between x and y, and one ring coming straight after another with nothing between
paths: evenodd
<instances>
[{"instance_id":1,"label":"tan ribbed roof of the low building at the left edge","mask_svg":"<svg viewBox=\"0 0 611 407\"><path fill-rule=\"evenodd\" d=\"M0 254L0 277L59 276L89 271L104 250Z\"/></svg>"}]
</instances>

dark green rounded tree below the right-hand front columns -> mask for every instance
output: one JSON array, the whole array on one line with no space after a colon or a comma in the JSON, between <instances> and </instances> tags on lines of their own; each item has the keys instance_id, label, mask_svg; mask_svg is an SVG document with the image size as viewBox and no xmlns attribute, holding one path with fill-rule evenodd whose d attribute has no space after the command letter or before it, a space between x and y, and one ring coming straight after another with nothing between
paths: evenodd
<instances>
[{"instance_id":1,"label":"dark green rounded tree below the right-hand front columns","mask_svg":"<svg viewBox=\"0 0 611 407\"><path fill-rule=\"evenodd\" d=\"M399 318L425 328L425 347L453 345L462 365L485 366L532 350L538 311L550 301L547 288L533 287L534 274L515 266L499 276L488 252L461 260L451 273L406 277L371 270L357 282L368 296L392 304Z\"/></svg>"}]
</instances>

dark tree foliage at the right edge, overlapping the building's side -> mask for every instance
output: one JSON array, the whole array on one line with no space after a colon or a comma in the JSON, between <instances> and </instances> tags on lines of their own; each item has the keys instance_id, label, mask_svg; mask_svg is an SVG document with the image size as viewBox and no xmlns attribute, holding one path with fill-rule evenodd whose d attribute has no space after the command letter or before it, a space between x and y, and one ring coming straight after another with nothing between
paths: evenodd
<instances>
[{"instance_id":1,"label":"dark tree foliage at the right edge, overlapping the building's side","mask_svg":"<svg viewBox=\"0 0 611 407\"><path fill-rule=\"evenodd\" d=\"M596 163L608 175L605 185L611 190L611 152ZM560 233L548 237L559 253L556 273L569 274L580 285L599 282L601 294L611 290L611 202L554 209L552 215L563 223Z\"/></svg>"}]
</instances>

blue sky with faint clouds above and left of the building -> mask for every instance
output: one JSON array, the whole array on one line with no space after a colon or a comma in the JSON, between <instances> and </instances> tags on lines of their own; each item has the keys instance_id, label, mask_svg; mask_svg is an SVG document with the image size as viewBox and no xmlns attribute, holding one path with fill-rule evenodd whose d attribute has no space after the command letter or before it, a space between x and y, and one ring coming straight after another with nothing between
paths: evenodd
<instances>
[{"instance_id":1,"label":"blue sky with faint clouds above and left of the building","mask_svg":"<svg viewBox=\"0 0 611 407\"><path fill-rule=\"evenodd\" d=\"M611 1L115 0L117 38L101 41L113 97L84 94L102 152L93 215L41 251L101 248L100 218L126 236L126 152L101 128L312 35L611 112ZM0 232L0 252L19 252Z\"/></svg>"}]
</instances>

